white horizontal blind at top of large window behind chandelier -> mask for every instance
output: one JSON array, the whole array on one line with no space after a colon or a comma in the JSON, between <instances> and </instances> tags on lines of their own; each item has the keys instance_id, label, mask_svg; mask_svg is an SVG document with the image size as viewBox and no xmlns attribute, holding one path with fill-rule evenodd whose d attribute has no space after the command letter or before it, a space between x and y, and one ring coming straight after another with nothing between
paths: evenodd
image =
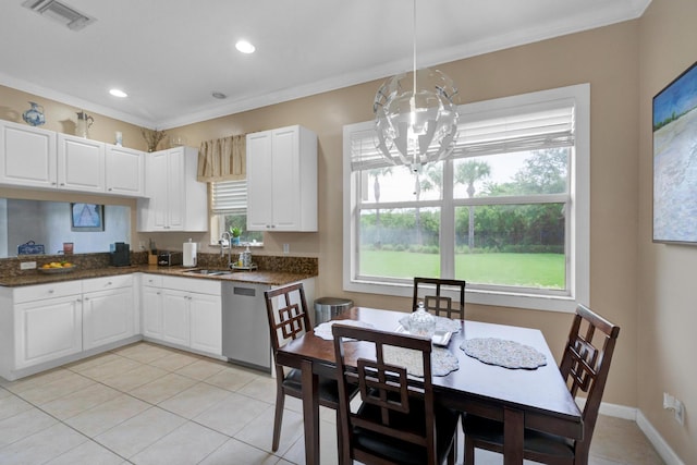
<instances>
[{"instance_id":1,"label":"white horizontal blind at top of large window behind chandelier","mask_svg":"<svg viewBox=\"0 0 697 465\"><path fill-rule=\"evenodd\" d=\"M574 100L561 99L523 105L515 109L463 110L452 158L505 154L574 145ZM370 170L391 163L377 148L375 127L351 134L351 169Z\"/></svg>"}]
</instances>

